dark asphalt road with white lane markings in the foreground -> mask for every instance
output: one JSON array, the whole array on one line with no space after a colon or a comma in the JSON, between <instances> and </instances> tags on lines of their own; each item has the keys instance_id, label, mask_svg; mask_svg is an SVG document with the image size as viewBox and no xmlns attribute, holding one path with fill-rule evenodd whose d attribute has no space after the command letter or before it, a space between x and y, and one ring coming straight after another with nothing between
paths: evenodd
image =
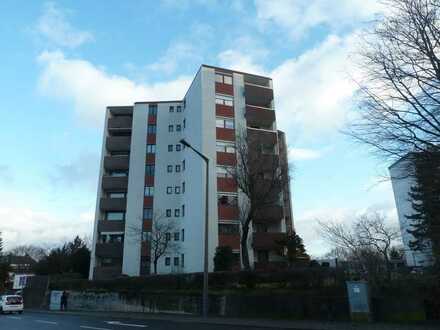
<instances>
[{"instance_id":1,"label":"dark asphalt road with white lane markings in the foreground","mask_svg":"<svg viewBox=\"0 0 440 330\"><path fill-rule=\"evenodd\" d=\"M238 330L249 327L165 321L165 320L133 320L104 316L62 315L51 313L5 314L0 315L1 330ZM252 329L258 329L252 327ZM261 328L264 329L264 328Z\"/></svg>"}]
</instances>

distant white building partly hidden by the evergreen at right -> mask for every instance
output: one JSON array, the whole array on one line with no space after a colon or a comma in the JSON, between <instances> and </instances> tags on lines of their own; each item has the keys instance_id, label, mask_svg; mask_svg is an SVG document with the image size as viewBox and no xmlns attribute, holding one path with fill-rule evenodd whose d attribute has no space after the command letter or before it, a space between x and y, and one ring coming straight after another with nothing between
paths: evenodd
<instances>
[{"instance_id":1,"label":"distant white building partly hidden by the evergreen at right","mask_svg":"<svg viewBox=\"0 0 440 330\"><path fill-rule=\"evenodd\" d=\"M411 220L407 216L412 215L412 208L409 192L411 187L416 185L416 178L412 173L410 155L401 158L389 167L391 183L393 186L394 200L396 202L397 216L399 218L400 231L402 234L403 245L405 248L406 264L410 267L426 267L433 264L432 250L416 251L411 249L410 242L414 236L408 232L412 229Z\"/></svg>"}]
</instances>

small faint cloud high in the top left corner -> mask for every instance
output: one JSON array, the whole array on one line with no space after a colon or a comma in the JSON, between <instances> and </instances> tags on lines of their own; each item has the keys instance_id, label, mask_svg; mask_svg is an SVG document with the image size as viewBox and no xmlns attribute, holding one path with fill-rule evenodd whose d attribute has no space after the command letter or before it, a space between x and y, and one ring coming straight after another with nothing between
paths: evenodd
<instances>
[{"instance_id":1,"label":"small faint cloud high in the top left corner","mask_svg":"<svg viewBox=\"0 0 440 330\"><path fill-rule=\"evenodd\" d=\"M88 31L73 27L67 20L67 12L53 2L46 2L43 15L37 22L36 32L56 46L76 48L93 40Z\"/></svg>"}]
</instances>

